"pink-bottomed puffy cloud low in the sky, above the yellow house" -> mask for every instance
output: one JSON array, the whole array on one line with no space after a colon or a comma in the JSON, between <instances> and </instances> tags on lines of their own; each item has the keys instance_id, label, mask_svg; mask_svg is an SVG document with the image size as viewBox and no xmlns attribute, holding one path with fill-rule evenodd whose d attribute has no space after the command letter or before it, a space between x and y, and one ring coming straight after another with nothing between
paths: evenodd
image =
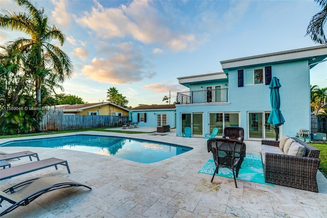
<instances>
[{"instance_id":1,"label":"pink-bottomed puffy cloud low in the sky, above the yellow house","mask_svg":"<svg viewBox=\"0 0 327 218\"><path fill-rule=\"evenodd\" d=\"M83 67L81 74L86 78L111 84L130 84L156 75L144 71L149 63L131 42L109 45L103 50L108 57L95 57Z\"/></svg>"}]
</instances>

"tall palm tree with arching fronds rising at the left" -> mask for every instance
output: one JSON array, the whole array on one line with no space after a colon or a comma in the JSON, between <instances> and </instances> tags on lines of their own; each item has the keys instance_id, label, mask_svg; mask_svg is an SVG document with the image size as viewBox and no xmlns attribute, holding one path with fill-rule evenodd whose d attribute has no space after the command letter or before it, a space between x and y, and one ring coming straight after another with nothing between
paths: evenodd
<instances>
[{"instance_id":1,"label":"tall palm tree with arching fronds rising at the left","mask_svg":"<svg viewBox=\"0 0 327 218\"><path fill-rule=\"evenodd\" d=\"M57 46L50 43L58 39L62 46L65 35L55 26L50 27L48 16L44 9L36 9L27 0L13 0L19 6L25 8L28 13L15 13L3 11L0 14L0 28L22 31L31 38L18 38L9 43L12 51L20 51L24 54L27 66L24 71L34 78L36 100L41 103L41 86L51 72L52 78L57 82L63 82L73 74L73 66L69 57Z\"/></svg>"}]
</instances>

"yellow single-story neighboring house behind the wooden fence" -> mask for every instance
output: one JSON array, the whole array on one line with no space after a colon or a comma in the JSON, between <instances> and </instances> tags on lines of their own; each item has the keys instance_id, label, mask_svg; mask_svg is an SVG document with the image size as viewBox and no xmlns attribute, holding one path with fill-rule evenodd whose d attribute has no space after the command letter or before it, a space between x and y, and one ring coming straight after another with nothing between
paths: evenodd
<instances>
[{"instance_id":1,"label":"yellow single-story neighboring house behind the wooden fence","mask_svg":"<svg viewBox=\"0 0 327 218\"><path fill-rule=\"evenodd\" d=\"M114 104L110 101L102 103L87 103L74 105L57 105L63 110L64 115L109 115L109 116L128 116L129 109Z\"/></svg>"}]
</instances>

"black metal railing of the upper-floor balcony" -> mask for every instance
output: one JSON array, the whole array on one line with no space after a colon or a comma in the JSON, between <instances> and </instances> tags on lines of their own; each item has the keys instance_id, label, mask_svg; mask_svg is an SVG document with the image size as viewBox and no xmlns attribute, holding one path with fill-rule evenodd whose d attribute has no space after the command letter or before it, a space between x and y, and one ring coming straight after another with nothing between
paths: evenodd
<instances>
[{"instance_id":1,"label":"black metal railing of the upper-floor balcony","mask_svg":"<svg viewBox=\"0 0 327 218\"><path fill-rule=\"evenodd\" d=\"M192 92L178 92L177 104L195 104L210 102L227 102L228 89L201 90Z\"/></svg>"}]
</instances>

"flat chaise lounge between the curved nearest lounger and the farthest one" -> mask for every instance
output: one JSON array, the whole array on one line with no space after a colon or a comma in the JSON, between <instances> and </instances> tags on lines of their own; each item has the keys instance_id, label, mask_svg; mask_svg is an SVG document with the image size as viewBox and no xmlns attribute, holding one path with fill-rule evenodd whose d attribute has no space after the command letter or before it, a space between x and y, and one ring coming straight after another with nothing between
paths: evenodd
<instances>
[{"instance_id":1,"label":"flat chaise lounge between the curved nearest lounger and the farthest one","mask_svg":"<svg viewBox=\"0 0 327 218\"><path fill-rule=\"evenodd\" d=\"M47 167L54 166L56 169L58 169L57 165L64 165L67 168L68 173L71 173L71 170L69 170L69 166L67 161L61 160L58 158L49 158L45 160L35 161L32 163L22 164L14 167L10 167L7 169L0 170L0 181L9 179L12 177L17 177L20 175L23 175L25 173L33 172L39 169L44 169Z\"/></svg>"}]
</instances>

